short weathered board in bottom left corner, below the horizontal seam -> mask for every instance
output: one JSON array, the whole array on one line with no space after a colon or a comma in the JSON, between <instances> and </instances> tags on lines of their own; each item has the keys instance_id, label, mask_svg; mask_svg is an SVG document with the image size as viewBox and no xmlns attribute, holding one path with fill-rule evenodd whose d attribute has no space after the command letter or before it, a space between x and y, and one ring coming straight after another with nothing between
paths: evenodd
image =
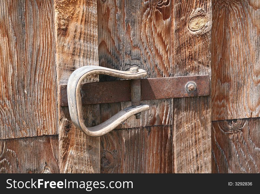
<instances>
[{"instance_id":1,"label":"short weathered board in bottom left corner, below the horizontal seam","mask_svg":"<svg viewBox=\"0 0 260 194\"><path fill-rule=\"evenodd\" d=\"M58 136L0 140L0 173L59 173Z\"/></svg>"}]
</instances>

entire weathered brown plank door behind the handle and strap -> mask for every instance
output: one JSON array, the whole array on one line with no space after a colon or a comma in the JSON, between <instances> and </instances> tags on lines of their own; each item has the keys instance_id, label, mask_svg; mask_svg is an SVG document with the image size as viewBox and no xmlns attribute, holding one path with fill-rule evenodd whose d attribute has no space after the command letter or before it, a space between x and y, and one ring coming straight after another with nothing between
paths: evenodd
<instances>
[{"instance_id":1,"label":"entire weathered brown plank door behind the handle and strap","mask_svg":"<svg viewBox=\"0 0 260 194\"><path fill-rule=\"evenodd\" d=\"M259 116L259 3L4 0L0 6L0 172L210 173L212 164L213 172L259 172L259 120L248 119ZM211 79L213 72L212 98L147 100L150 110L140 120L133 116L90 137L74 127L59 93L85 65L138 66L147 78ZM84 105L85 123L98 125L129 105Z\"/></svg>"}]
</instances>

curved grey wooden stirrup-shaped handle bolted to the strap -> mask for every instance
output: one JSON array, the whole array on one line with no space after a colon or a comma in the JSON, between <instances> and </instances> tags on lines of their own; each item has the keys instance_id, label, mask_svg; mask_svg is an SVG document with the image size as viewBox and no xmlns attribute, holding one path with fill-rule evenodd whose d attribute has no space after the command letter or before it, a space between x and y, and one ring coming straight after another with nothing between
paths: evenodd
<instances>
[{"instance_id":1,"label":"curved grey wooden stirrup-shaped handle bolted to the strap","mask_svg":"<svg viewBox=\"0 0 260 194\"><path fill-rule=\"evenodd\" d=\"M127 107L117 114L113 115L111 118L106 120L105 122L94 126L94 127L86 127L83 119L83 109L82 109L82 100L80 94L80 86L83 79L86 76L90 76L92 74L105 74L115 77L120 77L124 79L139 79L147 75L147 71L143 69L139 69L137 72L130 71L119 71L115 69L109 69L106 67L100 66L83 66L76 69L69 77L67 84L67 96L68 96L68 104L69 104L69 114L73 124L81 131L86 133L89 136L102 136L118 125L121 122L125 121L127 118L131 117L134 114L140 113L144 110L149 110L149 105L140 104L137 106ZM132 91L133 96L133 91Z\"/></svg>"}]
</instances>

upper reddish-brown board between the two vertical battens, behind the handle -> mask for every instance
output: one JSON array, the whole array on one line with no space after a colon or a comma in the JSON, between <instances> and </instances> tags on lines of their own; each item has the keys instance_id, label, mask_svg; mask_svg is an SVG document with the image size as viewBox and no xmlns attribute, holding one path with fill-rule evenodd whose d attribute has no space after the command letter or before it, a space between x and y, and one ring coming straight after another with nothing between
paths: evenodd
<instances>
[{"instance_id":1,"label":"upper reddish-brown board between the two vertical battens, behind the handle","mask_svg":"<svg viewBox=\"0 0 260 194\"><path fill-rule=\"evenodd\" d=\"M169 77L170 27L169 1L98 0L100 66L122 71L137 66L147 70L147 78ZM116 78L100 76L100 81L111 80ZM133 116L118 128L171 124L170 99L143 103L150 105L150 112L140 120ZM129 102L100 105L101 122L128 106Z\"/></svg>"}]
</instances>

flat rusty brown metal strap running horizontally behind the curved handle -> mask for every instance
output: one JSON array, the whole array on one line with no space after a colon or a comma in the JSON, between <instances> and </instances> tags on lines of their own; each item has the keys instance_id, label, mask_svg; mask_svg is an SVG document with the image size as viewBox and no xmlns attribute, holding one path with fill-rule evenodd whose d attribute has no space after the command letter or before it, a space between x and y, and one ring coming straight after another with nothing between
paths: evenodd
<instances>
[{"instance_id":1,"label":"flat rusty brown metal strap running horizontally behind the curved handle","mask_svg":"<svg viewBox=\"0 0 260 194\"><path fill-rule=\"evenodd\" d=\"M194 81L197 88L187 92L185 85ZM67 85L60 85L60 105L68 106ZM91 91L91 92L90 92ZM131 80L82 83L82 104L101 104L131 101ZM141 100L207 96L209 76L181 76L141 79Z\"/></svg>"}]
</instances>

